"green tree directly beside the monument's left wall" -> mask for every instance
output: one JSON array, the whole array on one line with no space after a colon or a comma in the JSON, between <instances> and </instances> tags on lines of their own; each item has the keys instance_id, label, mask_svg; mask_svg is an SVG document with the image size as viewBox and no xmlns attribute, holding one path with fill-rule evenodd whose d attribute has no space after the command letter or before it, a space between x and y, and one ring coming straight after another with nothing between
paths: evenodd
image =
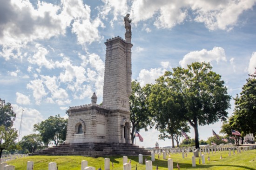
<instances>
[{"instance_id":1,"label":"green tree directly beside the monument's left wall","mask_svg":"<svg viewBox=\"0 0 256 170\"><path fill-rule=\"evenodd\" d=\"M34 131L39 131L42 141L46 147L50 141L54 141L57 146L61 141L66 140L67 119L61 118L60 115L50 116L41 123L34 124Z\"/></svg>"}]
</instances>

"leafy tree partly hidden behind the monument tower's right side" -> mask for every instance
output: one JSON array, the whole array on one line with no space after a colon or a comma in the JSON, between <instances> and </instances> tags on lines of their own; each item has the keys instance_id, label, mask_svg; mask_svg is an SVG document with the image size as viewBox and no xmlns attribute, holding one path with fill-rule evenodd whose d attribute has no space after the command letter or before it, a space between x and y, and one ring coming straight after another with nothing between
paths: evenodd
<instances>
[{"instance_id":1,"label":"leafy tree partly hidden behind the monument tower's right side","mask_svg":"<svg viewBox=\"0 0 256 170\"><path fill-rule=\"evenodd\" d=\"M130 101L130 121L132 124L131 138L132 143L135 139L135 130L140 131L145 129L150 124L150 117L148 112L148 95L150 94L150 85L141 87L137 80L132 81L132 94L129 98Z\"/></svg>"}]
</instances>

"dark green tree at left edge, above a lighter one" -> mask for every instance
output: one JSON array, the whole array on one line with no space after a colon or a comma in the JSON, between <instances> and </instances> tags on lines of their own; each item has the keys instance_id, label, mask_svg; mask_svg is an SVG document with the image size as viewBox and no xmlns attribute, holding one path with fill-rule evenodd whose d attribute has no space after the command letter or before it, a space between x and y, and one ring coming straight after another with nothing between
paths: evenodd
<instances>
[{"instance_id":1,"label":"dark green tree at left edge, above a lighter one","mask_svg":"<svg viewBox=\"0 0 256 170\"><path fill-rule=\"evenodd\" d=\"M5 103L5 100L0 98L0 126L4 125L6 129L13 126L13 121L16 118L16 113L10 103Z\"/></svg>"}]
</instances>

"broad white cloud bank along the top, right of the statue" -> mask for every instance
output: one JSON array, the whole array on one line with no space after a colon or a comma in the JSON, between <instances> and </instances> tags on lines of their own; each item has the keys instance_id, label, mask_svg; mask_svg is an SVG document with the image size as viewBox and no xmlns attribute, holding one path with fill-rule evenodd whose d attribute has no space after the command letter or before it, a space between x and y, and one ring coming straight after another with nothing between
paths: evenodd
<instances>
[{"instance_id":1,"label":"broad white cloud bank along the top, right of the statue","mask_svg":"<svg viewBox=\"0 0 256 170\"><path fill-rule=\"evenodd\" d=\"M135 25L155 18L157 28L172 28L192 18L202 22L209 30L230 30L236 25L239 16L252 9L256 0L134 0L131 16ZM192 10L189 16L188 10Z\"/></svg>"}]
</instances>

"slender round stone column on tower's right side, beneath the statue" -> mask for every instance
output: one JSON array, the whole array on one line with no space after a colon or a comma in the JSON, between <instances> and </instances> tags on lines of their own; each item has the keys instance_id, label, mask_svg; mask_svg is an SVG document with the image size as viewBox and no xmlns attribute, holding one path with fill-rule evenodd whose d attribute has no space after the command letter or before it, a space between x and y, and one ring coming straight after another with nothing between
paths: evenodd
<instances>
[{"instance_id":1,"label":"slender round stone column on tower's right side, beneath the statue","mask_svg":"<svg viewBox=\"0 0 256 170\"><path fill-rule=\"evenodd\" d=\"M126 74L127 74L127 97L129 98L132 94L132 33L125 33L125 41L126 41Z\"/></svg>"}]
</instances>

